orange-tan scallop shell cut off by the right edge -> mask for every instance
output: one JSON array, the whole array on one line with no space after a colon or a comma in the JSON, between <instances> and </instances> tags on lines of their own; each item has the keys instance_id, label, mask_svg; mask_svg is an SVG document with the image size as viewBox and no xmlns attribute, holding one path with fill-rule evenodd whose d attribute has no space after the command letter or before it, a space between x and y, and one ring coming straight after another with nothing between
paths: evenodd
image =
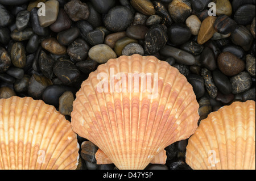
<instances>
[{"instance_id":1,"label":"orange-tan scallop shell cut off by the right edge","mask_svg":"<svg viewBox=\"0 0 256 181\"><path fill-rule=\"evenodd\" d=\"M255 170L255 102L210 113L188 140L186 162L197 170Z\"/></svg>"}]
</instances>

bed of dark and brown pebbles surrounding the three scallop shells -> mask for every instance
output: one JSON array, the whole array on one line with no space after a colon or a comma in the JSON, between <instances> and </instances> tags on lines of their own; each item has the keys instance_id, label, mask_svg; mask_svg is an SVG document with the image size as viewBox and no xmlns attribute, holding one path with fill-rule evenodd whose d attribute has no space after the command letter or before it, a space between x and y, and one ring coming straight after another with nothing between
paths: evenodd
<instances>
[{"instance_id":1,"label":"bed of dark and brown pebbles surrounding the three scallop shells","mask_svg":"<svg viewBox=\"0 0 256 181\"><path fill-rule=\"evenodd\" d=\"M39 2L46 16L38 16ZM217 16L208 15L209 2ZM0 17L0 99L42 99L70 120L91 71L138 53L187 77L200 120L234 101L255 100L255 0L0 0ZM97 146L78 140L78 169L117 169L96 165ZM187 143L168 146L166 165L146 169L191 169Z\"/></svg>"}]
</instances>

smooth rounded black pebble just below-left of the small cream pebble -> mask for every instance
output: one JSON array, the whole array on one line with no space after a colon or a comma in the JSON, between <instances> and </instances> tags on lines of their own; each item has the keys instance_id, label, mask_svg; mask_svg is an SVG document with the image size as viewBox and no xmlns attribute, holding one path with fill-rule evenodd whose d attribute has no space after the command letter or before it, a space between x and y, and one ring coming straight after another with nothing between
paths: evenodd
<instances>
[{"instance_id":1,"label":"smooth rounded black pebble just below-left of the small cream pebble","mask_svg":"<svg viewBox=\"0 0 256 181\"><path fill-rule=\"evenodd\" d=\"M168 39L172 44L181 45L186 43L191 37L191 31L182 23L174 23L168 28Z\"/></svg>"}]
</instances>

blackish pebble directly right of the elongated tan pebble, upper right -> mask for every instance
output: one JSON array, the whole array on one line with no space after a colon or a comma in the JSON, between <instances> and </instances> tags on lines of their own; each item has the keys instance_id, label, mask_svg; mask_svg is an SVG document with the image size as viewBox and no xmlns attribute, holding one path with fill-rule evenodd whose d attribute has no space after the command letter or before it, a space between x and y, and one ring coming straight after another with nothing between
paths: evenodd
<instances>
[{"instance_id":1,"label":"blackish pebble directly right of the elongated tan pebble, upper right","mask_svg":"<svg viewBox=\"0 0 256 181\"><path fill-rule=\"evenodd\" d=\"M228 34L236 30L237 23L227 15L220 15L214 22L214 28L218 33Z\"/></svg>"}]
</instances>

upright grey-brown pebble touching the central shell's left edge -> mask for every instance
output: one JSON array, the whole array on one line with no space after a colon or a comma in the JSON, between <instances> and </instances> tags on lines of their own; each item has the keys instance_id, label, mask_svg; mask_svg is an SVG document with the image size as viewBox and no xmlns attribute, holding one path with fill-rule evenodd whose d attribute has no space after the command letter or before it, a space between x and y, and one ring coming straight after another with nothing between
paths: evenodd
<instances>
[{"instance_id":1,"label":"upright grey-brown pebble touching the central shell's left edge","mask_svg":"<svg viewBox=\"0 0 256 181\"><path fill-rule=\"evenodd\" d=\"M73 101L75 100L71 91L65 91L59 98L59 111L62 115L71 115L73 110Z\"/></svg>"}]
</instances>

